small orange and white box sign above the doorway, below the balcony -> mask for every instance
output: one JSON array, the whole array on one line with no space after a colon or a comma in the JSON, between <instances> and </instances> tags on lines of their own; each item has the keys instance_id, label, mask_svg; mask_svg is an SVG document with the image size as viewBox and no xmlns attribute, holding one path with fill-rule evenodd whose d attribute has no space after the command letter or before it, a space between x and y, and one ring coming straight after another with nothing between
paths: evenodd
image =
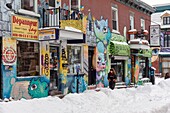
<instances>
[{"instance_id":1,"label":"small orange and white box sign above the doorway, below the balcony","mask_svg":"<svg viewBox=\"0 0 170 113\"><path fill-rule=\"evenodd\" d=\"M39 40L57 40L59 39L58 29L43 29L39 30Z\"/></svg>"}]
</instances>

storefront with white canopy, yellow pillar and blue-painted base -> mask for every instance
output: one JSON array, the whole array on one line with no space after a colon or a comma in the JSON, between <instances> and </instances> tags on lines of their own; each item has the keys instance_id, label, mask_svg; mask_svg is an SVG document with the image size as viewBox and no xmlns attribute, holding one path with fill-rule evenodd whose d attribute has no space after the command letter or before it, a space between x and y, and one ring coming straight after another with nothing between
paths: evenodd
<instances>
[{"instance_id":1,"label":"storefront with white canopy, yellow pillar and blue-painted base","mask_svg":"<svg viewBox=\"0 0 170 113\"><path fill-rule=\"evenodd\" d=\"M82 32L60 30L59 90L64 94L83 92L87 88L88 77L84 74L84 62L88 48L84 44L84 38Z\"/></svg>"}]
</instances>

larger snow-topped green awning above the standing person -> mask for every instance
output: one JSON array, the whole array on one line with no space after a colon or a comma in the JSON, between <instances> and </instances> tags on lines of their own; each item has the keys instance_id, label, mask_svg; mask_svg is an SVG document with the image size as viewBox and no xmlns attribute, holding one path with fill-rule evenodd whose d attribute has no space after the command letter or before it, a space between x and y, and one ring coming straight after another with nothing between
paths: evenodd
<instances>
[{"instance_id":1,"label":"larger snow-topped green awning above the standing person","mask_svg":"<svg viewBox=\"0 0 170 113\"><path fill-rule=\"evenodd\" d=\"M130 47L126 42L111 41L109 53L114 56L130 56Z\"/></svg>"}]
</instances>

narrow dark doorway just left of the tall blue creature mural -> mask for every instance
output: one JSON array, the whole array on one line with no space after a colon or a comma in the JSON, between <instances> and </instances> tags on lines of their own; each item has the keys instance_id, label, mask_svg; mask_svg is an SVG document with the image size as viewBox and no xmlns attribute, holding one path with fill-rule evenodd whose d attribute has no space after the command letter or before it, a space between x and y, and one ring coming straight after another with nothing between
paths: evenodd
<instances>
[{"instance_id":1,"label":"narrow dark doorway just left of the tall blue creature mural","mask_svg":"<svg viewBox=\"0 0 170 113\"><path fill-rule=\"evenodd\" d=\"M88 50L88 61L89 61L89 73L88 73L88 85L96 84L96 69L93 68L93 55L94 47L89 47Z\"/></svg>"}]
</instances>

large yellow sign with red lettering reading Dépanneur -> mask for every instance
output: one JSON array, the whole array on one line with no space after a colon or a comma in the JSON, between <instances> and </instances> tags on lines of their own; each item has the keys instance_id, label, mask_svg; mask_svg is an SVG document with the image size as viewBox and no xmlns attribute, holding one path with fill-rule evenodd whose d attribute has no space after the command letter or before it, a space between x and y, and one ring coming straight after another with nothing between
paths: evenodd
<instances>
[{"instance_id":1,"label":"large yellow sign with red lettering reading D\u00e9panneur","mask_svg":"<svg viewBox=\"0 0 170 113\"><path fill-rule=\"evenodd\" d=\"M12 37L38 40L38 20L12 16Z\"/></svg>"}]
</instances>

